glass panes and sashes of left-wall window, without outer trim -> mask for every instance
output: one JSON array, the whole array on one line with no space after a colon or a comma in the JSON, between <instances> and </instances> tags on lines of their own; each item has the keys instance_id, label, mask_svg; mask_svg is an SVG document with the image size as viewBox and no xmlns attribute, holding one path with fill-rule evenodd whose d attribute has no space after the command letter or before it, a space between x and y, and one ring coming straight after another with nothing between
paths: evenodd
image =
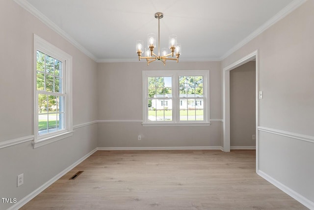
<instances>
[{"instance_id":1,"label":"glass panes and sashes of left-wall window, without outer trim","mask_svg":"<svg viewBox=\"0 0 314 210\"><path fill-rule=\"evenodd\" d=\"M36 51L38 134L64 130L63 62Z\"/></svg>"}]
</instances>

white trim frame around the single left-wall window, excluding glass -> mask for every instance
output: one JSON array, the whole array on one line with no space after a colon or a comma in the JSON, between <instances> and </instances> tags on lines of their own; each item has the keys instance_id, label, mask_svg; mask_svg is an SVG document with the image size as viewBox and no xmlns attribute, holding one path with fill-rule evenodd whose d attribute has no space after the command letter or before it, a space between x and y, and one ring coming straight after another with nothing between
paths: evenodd
<instances>
[{"instance_id":1,"label":"white trim frame around the single left-wall window, excluding glass","mask_svg":"<svg viewBox=\"0 0 314 210\"><path fill-rule=\"evenodd\" d=\"M53 133L38 135L38 95L37 95L37 50L65 63L65 129ZM34 34L34 148L38 148L73 135L72 114L72 56Z\"/></svg>"}]
</instances>

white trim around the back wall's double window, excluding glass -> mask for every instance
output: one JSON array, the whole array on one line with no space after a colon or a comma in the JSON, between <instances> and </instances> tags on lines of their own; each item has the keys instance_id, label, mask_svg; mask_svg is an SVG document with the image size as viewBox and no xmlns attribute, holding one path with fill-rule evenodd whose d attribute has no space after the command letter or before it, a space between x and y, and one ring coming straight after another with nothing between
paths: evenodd
<instances>
[{"instance_id":1,"label":"white trim around the back wall's double window, excluding glass","mask_svg":"<svg viewBox=\"0 0 314 210\"><path fill-rule=\"evenodd\" d=\"M148 107L146 104L146 99L148 95L148 77L169 77L172 79L172 110L173 110L173 121L149 121L148 120ZM204 109L204 120L203 121L180 121L178 105L180 103L180 98L178 96L179 92L179 76L203 76L203 91L204 91L204 104L206 104L206 109ZM143 116L143 126L209 126L210 125L210 115L209 115L209 70L144 70L142 71L142 116ZM174 106L177 106L174 109ZM204 107L205 108L205 107Z\"/></svg>"}]
</instances>

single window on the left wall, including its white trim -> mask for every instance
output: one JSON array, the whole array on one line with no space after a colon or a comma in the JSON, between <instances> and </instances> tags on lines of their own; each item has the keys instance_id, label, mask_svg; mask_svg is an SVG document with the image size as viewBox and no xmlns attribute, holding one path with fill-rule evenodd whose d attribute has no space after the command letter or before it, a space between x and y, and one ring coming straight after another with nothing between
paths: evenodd
<instances>
[{"instance_id":1,"label":"single window on the left wall, including its white trim","mask_svg":"<svg viewBox=\"0 0 314 210\"><path fill-rule=\"evenodd\" d=\"M72 135L72 57L35 34L34 54L35 147Z\"/></svg>"}]
</instances>

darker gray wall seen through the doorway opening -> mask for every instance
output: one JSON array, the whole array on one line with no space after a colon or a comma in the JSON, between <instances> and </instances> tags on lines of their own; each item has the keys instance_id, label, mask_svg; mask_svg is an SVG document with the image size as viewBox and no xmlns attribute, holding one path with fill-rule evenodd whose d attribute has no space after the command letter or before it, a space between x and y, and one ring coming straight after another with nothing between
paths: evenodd
<instances>
[{"instance_id":1,"label":"darker gray wall seen through the doorway opening","mask_svg":"<svg viewBox=\"0 0 314 210\"><path fill-rule=\"evenodd\" d=\"M255 146L255 61L230 71L230 146Z\"/></svg>"}]
</instances>

